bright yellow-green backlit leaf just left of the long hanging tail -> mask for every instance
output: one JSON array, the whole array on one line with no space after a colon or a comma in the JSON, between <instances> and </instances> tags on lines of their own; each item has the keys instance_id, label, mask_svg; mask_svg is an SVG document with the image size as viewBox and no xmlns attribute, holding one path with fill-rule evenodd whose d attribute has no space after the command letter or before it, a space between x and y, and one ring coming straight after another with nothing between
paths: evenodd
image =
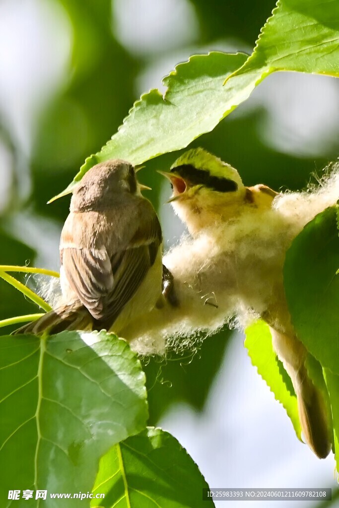
<instances>
[{"instance_id":1,"label":"bright yellow-green backlit leaf just left of the long hanging tail","mask_svg":"<svg viewBox=\"0 0 339 508\"><path fill-rule=\"evenodd\" d=\"M297 398L291 379L273 350L268 325L263 321L258 321L246 328L245 333L244 345L248 350L252 364L257 367L258 373L274 394L275 399L281 402L286 409L297 437L301 440Z\"/></svg>"}]
</instances>

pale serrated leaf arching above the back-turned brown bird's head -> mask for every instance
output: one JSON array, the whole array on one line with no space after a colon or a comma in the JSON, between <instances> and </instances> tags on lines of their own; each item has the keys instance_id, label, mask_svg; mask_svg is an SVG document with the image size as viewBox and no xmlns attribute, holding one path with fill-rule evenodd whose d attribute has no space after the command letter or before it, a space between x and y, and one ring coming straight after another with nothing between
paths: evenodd
<instances>
[{"instance_id":1,"label":"pale serrated leaf arching above the back-turned brown bird's head","mask_svg":"<svg viewBox=\"0 0 339 508\"><path fill-rule=\"evenodd\" d=\"M187 146L211 131L233 106L223 82L246 58L243 53L213 51L179 63L163 80L167 86L165 96L157 89L143 94L107 145L88 157L73 182L53 199L72 192L76 182L95 164L111 158L141 164Z\"/></svg>"}]
</instances>

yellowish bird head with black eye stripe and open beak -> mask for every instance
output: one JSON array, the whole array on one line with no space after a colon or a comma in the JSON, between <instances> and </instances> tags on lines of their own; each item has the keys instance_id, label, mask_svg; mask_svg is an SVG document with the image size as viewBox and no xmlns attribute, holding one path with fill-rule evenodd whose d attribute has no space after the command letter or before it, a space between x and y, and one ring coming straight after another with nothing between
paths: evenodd
<instances>
[{"instance_id":1,"label":"yellowish bird head with black eye stripe and open beak","mask_svg":"<svg viewBox=\"0 0 339 508\"><path fill-rule=\"evenodd\" d=\"M232 216L246 193L237 170L202 148L183 153L161 174L173 188L169 202L191 233Z\"/></svg>"}]
</instances>

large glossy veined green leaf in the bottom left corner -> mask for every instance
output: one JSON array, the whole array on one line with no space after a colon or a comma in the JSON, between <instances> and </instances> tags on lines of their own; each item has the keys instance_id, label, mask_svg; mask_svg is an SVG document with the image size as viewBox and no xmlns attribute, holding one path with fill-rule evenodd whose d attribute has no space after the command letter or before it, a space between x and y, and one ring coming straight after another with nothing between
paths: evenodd
<instances>
[{"instance_id":1,"label":"large glossy veined green leaf in the bottom left corner","mask_svg":"<svg viewBox=\"0 0 339 508\"><path fill-rule=\"evenodd\" d=\"M100 457L146 426L140 362L106 332L7 336L0 350L1 506L10 489L87 492Z\"/></svg>"}]
</instances>

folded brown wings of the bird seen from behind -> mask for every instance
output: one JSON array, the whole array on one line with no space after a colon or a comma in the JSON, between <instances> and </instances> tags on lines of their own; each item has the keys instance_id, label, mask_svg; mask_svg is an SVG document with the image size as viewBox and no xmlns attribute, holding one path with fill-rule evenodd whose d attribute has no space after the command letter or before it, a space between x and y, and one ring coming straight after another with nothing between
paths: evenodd
<instances>
[{"instance_id":1,"label":"folded brown wings of the bird seen from behind","mask_svg":"<svg viewBox=\"0 0 339 508\"><path fill-rule=\"evenodd\" d=\"M161 227L153 209L127 245L75 247L68 240L60 250L61 263L71 289L96 320L114 323L155 262L162 241ZM128 228L128 225L127 225ZM69 235L69 232L68 232Z\"/></svg>"}]
</instances>

